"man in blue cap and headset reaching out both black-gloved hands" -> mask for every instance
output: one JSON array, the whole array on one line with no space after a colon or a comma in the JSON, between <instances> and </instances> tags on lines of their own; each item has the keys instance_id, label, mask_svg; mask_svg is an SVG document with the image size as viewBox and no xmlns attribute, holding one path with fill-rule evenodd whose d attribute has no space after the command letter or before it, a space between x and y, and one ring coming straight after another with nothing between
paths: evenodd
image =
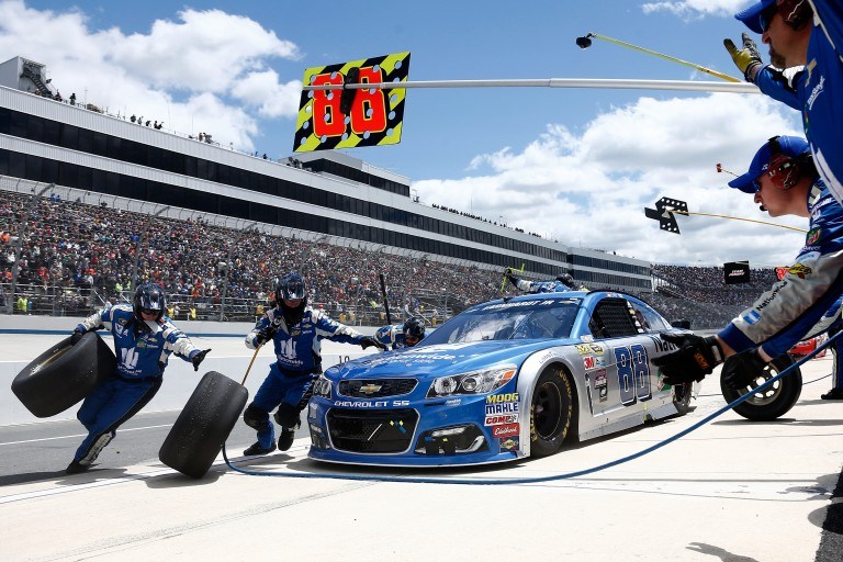
<instances>
[{"instance_id":1,"label":"man in blue cap and headset reaching out both black-gloved hands","mask_svg":"<svg viewBox=\"0 0 843 562\"><path fill-rule=\"evenodd\" d=\"M769 216L810 217L805 246L784 279L716 336L662 335L679 347L653 360L667 384L701 381L729 358L723 381L732 389L748 386L843 295L843 207L820 179L803 138L771 138L755 153L749 171L729 186L753 193Z\"/></svg>"}]
</instances>

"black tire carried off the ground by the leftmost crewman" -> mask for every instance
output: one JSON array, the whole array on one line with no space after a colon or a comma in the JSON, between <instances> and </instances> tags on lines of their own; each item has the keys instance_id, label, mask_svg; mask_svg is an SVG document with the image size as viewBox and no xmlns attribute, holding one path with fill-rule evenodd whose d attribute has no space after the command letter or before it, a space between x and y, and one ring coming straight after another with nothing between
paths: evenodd
<instances>
[{"instance_id":1,"label":"black tire carried off the ground by the leftmost crewman","mask_svg":"<svg viewBox=\"0 0 843 562\"><path fill-rule=\"evenodd\" d=\"M12 392L34 416L55 416L112 376L116 366L114 352L95 331L75 346L67 337L24 367L12 381Z\"/></svg>"}]
</instances>

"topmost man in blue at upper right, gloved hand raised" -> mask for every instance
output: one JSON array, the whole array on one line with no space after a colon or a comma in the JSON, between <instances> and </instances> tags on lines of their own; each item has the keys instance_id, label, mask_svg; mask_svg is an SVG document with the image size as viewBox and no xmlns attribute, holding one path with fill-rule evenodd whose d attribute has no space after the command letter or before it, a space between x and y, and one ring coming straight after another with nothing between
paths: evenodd
<instances>
[{"instance_id":1,"label":"topmost man in blue at upper right, gloved hand raised","mask_svg":"<svg viewBox=\"0 0 843 562\"><path fill-rule=\"evenodd\" d=\"M746 81L802 113L813 164L843 204L843 10L840 0L760 0L735 14L769 44L764 65L744 33L723 43Z\"/></svg>"}]
</instances>

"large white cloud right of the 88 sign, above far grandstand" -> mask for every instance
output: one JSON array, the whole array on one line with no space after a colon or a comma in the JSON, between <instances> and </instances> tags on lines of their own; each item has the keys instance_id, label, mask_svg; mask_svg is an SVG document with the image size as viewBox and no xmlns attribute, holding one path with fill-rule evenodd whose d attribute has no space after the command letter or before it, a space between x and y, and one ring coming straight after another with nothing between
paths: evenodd
<instances>
[{"instance_id":1,"label":"large white cloud right of the 88 sign, above far grandstand","mask_svg":"<svg viewBox=\"0 0 843 562\"><path fill-rule=\"evenodd\" d=\"M746 123L752 123L748 126ZM598 115L575 135L564 126L517 151L476 156L458 180L414 182L426 203L558 239L660 262L788 263L803 235L773 226L707 216L679 217L682 235L664 233L644 206L671 196L690 212L806 227L803 218L771 220L731 179L775 134L801 134L797 114L762 95L641 98ZM481 175L482 171L484 175Z\"/></svg>"}]
</instances>

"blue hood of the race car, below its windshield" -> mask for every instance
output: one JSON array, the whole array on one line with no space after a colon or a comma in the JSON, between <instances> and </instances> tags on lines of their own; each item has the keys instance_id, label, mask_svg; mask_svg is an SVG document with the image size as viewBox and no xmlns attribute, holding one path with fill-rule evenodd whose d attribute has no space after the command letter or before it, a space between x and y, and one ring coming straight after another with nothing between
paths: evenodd
<instances>
[{"instance_id":1,"label":"blue hood of the race car, below its windshield","mask_svg":"<svg viewBox=\"0 0 843 562\"><path fill-rule=\"evenodd\" d=\"M536 351L571 345L578 340L494 340L474 344L443 344L386 351L331 367L331 379L374 379L384 376L445 376L496 364L520 366Z\"/></svg>"}]
</instances>

